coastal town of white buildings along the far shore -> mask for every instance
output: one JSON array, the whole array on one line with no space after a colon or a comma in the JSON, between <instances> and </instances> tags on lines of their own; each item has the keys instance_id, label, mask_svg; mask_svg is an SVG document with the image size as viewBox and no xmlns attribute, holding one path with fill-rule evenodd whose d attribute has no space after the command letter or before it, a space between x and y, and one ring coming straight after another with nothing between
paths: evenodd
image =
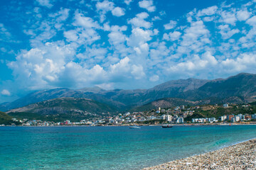
<instances>
[{"instance_id":1,"label":"coastal town of white buildings along the far shore","mask_svg":"<svg viewBox=\"0 0 256 170\"><path fill-rule=\"evenodd\" d=\"M126 112L118 113L117 115L106 117L95 117L80 121L64 120L63 122L43 121L43 120L28 120L13 118L22 126L56 126L56 125L90 125L90 126L105 126L105 125L160 125L164 123L174 125L194 125L194 124L223 124L223 123L254 123L256 121L256 113L238 113L238 114L223 114L212 117L201 116L198 113L201 111L209 111L216 108L248 108L249 104L240 105L225 103L221 106L176 106L173 108L156 107L151 111L141 112ZM225 111L225 110L224 110ZM196 115L196 116L195 116ZM13 124L15 125L15 123ZM1 125L4 126L4 125Z\"/></svg>"}]
</instances>

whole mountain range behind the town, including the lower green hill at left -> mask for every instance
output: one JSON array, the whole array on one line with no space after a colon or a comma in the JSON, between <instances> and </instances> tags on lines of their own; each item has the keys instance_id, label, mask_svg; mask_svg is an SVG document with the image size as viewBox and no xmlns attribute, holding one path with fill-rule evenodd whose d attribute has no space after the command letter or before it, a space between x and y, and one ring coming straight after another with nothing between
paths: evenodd
<instances>
[{"instance_id":1,"label":"whole mountain range behind the town, including the lower green hill at left","mask_svg":"<svg viewBox=\"0 0 256 170\"><path fill-rule=\"evenodd\" d=\"M252 101L256 101L256 74L240 73L227 79L172 80L151 89L105 90L100 89L100 87L93 87L78 90L63 88L42 90L28 94L13 102L1 103L0 111L18 108L18 110L11 111L30 111L43 114L46 112L58 113L59 109L59 111L68 113L72 108L80 111L102 113L107 111L129 111L131 109L142 110L155 106L171 107L187 104L247 103ZM65 111L65 105L69 105L68 103L72 103L70 105L73 106ZM75 105L74 103L79 104ZM56 108L53 109L54 107L49 108L50 105L59 108L57 110ZM26 106L26 109L21 108L24 106ZM94 107L99 109L96 109L97 111L93 110Z\"/></svg>"}]
</instances>

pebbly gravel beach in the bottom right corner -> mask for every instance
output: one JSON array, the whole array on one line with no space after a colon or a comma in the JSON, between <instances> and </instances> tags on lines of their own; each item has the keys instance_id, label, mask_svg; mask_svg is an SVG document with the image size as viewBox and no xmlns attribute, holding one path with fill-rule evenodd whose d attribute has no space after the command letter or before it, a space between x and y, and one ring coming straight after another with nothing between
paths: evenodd
<instances>
[{"instance_id":1,"label":"pebbly gravel beach in the bottom right corner","mask_svg":"<svg viewBox=\"0 0 256 170\"><path fill-rule=\"evenodd\" d=\"M153 169L256 169L256 139L143 170Z\"/></svg>"}]
</instances>

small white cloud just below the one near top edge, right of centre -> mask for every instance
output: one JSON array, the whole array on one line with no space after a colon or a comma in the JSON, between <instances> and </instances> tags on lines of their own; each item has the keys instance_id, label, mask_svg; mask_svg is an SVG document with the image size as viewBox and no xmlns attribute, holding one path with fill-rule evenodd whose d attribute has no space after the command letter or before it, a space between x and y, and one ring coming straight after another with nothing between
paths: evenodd
<instances>
[{"instance_id":1,"label":"small white cloud just below the one near top edge, right of centre","mask_svg":"<svg viewBox=\"0 0 256 170\"><path fill-rule=\"evenodd\" d=\"M142 28L151 28L151 23L148 21L145 21L144 19L148 18L149 14L142 12L138 13L136 17L132 18L131 20L128 21L128 23L132 24L133 27L142 27Z\"/></svg>"}]
</instances>

